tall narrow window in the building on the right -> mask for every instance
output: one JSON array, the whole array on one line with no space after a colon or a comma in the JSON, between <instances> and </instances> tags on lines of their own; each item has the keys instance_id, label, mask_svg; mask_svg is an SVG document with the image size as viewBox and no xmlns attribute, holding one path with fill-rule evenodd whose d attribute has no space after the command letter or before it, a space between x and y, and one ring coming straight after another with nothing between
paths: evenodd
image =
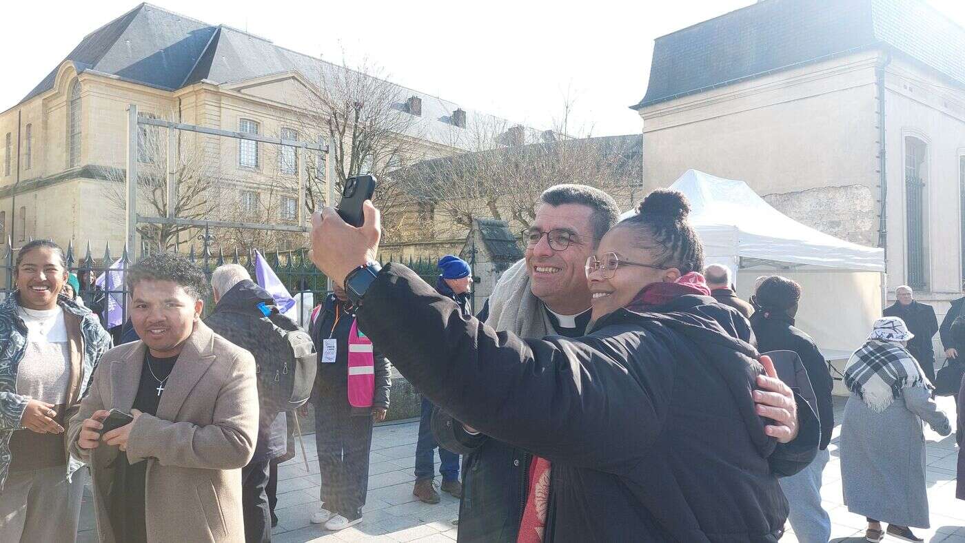
<instances>
[{"instance_id":1,"label":"tall narrow window in the building on the right","mask_svg":"<svg viewBox=\"0 0 965 543\"><path fill-rule=\"evenodd\" d=\"M905 138L905 220L908 232L907 282L914 289L927 284L927 245L924 213L928 146L920 139Z\"/></svg>"}]
</instances>

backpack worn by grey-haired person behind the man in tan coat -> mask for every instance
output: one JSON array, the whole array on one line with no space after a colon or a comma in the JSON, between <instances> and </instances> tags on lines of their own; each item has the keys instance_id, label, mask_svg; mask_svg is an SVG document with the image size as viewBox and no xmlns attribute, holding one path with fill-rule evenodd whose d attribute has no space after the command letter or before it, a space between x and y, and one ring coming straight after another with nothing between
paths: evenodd
<instances>
[{"instance_id":1,"label":"backpack worn by grey-haired person behind the man in tan coat","mask_svg":"<svg viewBox=\"0 0 965 543\"><path fill-rule=\"evenodd\" d=\"M278 312L277 307L261 303L258 308L264 315L258 320L265 327L265 331L267 327L271 327L268 334L270 344L264 343L263 334L251 333L245 335L246 340L236 342L237 345L248 349L252 354L265 351L287 353L287 356L255 357L262 411L277 413L301 407L308 401L315 385L317 362L312 337L289 317ZM256 318L251 313L234 313L243 314L246 318Z\"/></svg>"}]
</instances>

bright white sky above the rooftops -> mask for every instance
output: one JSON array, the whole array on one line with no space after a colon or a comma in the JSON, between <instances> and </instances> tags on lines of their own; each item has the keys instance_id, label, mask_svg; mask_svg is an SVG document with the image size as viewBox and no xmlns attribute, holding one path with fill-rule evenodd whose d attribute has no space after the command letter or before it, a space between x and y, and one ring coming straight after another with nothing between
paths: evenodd
<instances>
[{"instance_id":1,"label":"bright white sky above the rooftops","mask_svg":"<svg viewBox=\"0 0 965 543\"><path fill-rule=\"evenodd\" d=\"M156 0L167 10L247 29L279 45L352 65L368 57L389 78L534 127L575 108L571 131L636 133L628 106L647 89L653 39L754 0L636 2L296 2ZM965 25L965 1L929 0ZM0 111L13 106L83 39L131 1L6 2L0 18Z\"/></svg>"}]
</instances>

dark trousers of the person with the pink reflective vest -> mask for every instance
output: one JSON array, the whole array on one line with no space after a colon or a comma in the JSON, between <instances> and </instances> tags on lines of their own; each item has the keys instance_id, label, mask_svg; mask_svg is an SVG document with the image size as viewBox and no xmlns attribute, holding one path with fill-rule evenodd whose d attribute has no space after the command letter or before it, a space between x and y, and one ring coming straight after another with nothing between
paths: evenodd
<instances>
[{"instance_id":1,"label":"dark trousers of the person with the pink reflective vest","mask_svg":"<svg viewBox=\"0 0 965 543\"><path fill-rule=\"evenodd\" d=\"M344 396L321 397L314 405L322 506L355 520L369 492L372 415L353 415Z\"/></svg>"}]
</instances>

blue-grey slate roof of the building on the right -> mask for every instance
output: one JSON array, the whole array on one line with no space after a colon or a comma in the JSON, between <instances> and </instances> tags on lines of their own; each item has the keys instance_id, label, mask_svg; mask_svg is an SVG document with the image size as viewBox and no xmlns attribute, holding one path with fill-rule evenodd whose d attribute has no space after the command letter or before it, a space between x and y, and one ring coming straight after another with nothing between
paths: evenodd
<instances>
[{"instance_id":1,"label":"blue-grey slate roof of the building on the right","mask_svg":"<svg viewBox=\"0 0 965 543\"><path fill-rule=\"evenodd\" d=\"M764 0L658 38L633 107L871 47L965 85L965 30L922 0Z\"/></svg>"}]
</instances>

